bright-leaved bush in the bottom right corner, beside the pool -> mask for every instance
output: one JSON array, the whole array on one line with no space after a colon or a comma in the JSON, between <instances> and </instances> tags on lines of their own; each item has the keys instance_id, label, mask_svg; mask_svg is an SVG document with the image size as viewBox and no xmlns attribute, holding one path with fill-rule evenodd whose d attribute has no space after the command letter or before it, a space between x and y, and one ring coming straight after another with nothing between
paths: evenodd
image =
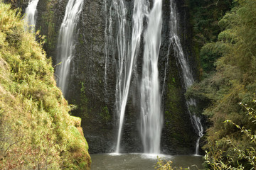
<instances>
[{"instance_id":1,"label":"bright-leaved bush in the bottom right corner, beside the pool","mask_svg":"<svg viewBox=\"0 0 256 170\"><path fill-rule=\"evenodd\" d=\"M247 119L255 122L256 113L252 108L244 106L247 114ZM225 145L230 146L230 151L227 152L223 148L220 141L213 142L206 150L206 163L210 169L256 169L256 135L255 130L247 130L245 127L240 127L232 120L225 120L225 124L235 126L244 138L244 141L239 141L235 137L223 140ZM245 142L247 145L245 145ZM218 149L218 150L217 150Z\"/></svg>"}]
</instances>

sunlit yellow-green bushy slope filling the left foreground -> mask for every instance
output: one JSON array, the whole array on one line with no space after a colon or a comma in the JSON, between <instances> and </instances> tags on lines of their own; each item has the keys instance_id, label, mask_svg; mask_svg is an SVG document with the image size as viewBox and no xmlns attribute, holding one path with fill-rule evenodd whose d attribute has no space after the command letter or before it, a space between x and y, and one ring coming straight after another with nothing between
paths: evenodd
<instances>
[{"instance_id":1,"label":"sunlit yellow-green bushy slope filling the left foreground","mask_svg":"<svg viewBox=\"0 0 256 170\"><path fill-rule=\"evenodd\" d=\"M21 14L0 1L0 169L90 169L80 118Z\"/></svg>"}]
</instances>

